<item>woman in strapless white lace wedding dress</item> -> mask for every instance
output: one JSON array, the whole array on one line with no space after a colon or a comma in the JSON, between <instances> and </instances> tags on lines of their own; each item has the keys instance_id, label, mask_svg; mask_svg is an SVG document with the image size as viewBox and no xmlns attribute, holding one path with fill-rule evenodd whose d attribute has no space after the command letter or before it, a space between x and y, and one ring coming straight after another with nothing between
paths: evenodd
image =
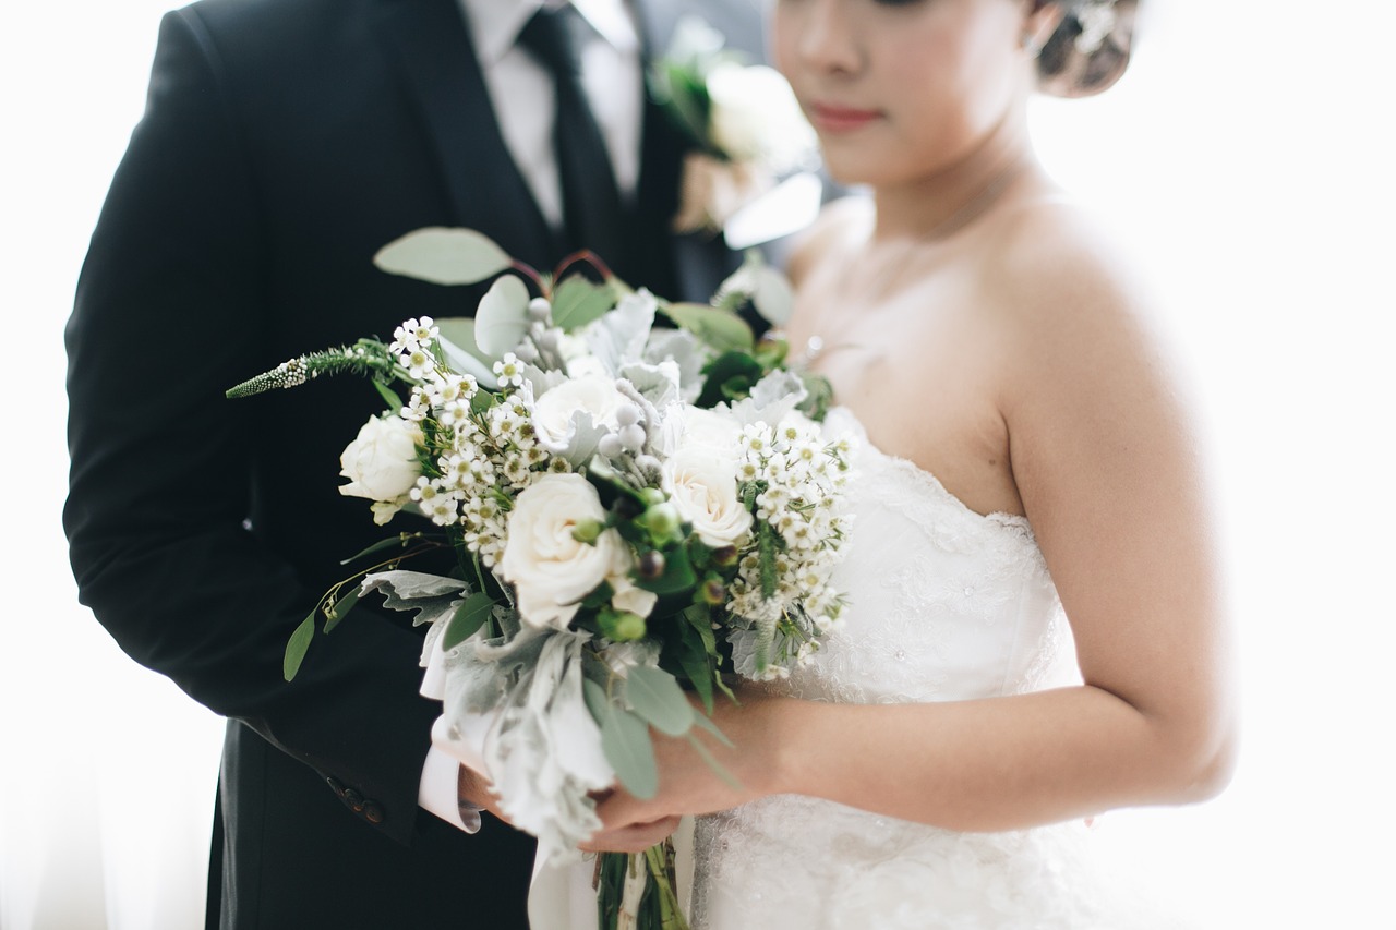
<instances>
[{"instance_id":1,"label":"woman in strapless white lace wedding dress","mask_svg":"<svg viewBox=\"0 0 1396 930\"><path fill-rule=\"evenodd\" d=\"M1122 6L1122 4L1121 4ZM1206 799L1234 709L1189 415L1108 237L1033 156L1034 87L1128 59L1099 0L776 0L775 57L831 173L792 263L793 346L866 436L815 660L733 743L656 736L660 792L607 829L697 824L694 922L1093 927L1104 810Z\"/></svg>"}]
</instances>

